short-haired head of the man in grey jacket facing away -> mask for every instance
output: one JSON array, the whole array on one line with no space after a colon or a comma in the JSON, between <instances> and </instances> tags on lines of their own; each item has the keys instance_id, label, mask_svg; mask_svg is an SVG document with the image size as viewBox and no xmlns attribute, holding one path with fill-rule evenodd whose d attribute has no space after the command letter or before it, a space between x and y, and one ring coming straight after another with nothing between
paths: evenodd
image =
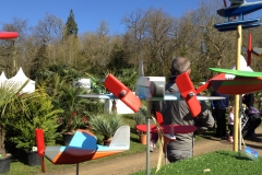
<instances>
[{"instance_id":1,"label":"short-haired head of the man in grey jacket facing away","mask_svg":"<svg viewBox=\"0 0 262 175\"><path fill-rule=\"evenodd\" d=\"M190 61L183 57L177 57L171 61L171 75L178 75L186 72L190 68Z\"/></svg>"}]
</instances>

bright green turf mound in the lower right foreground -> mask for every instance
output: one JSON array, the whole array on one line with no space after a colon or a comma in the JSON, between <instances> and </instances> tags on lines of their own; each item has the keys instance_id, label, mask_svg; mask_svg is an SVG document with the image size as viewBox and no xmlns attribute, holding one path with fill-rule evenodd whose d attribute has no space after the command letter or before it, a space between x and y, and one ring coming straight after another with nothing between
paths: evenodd
<instances>
[{"instance_id":1,"label":"bright green turf mound in the lower right foreground","mask_svg":"<svg viewBox=\"0 0 262 175\"><path fill-rule=\"evenodd\" d=\"M261 174L262 158L258 161L252 161L245 153L239 156L234 151L215 151L207 154L194 156L177 163L163 165L156 173L163 174L179 174L179 175L246 175ZM156 168L152 168L152 174L155 174ZM132 175L144 175L145 171L134 173Z\"/></svg>"}]
</instances>

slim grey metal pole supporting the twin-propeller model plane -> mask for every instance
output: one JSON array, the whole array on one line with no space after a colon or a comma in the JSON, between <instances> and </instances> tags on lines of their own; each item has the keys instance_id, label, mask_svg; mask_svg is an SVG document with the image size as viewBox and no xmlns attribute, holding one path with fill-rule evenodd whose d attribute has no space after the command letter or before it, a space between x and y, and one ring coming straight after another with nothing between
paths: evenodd
<instances>
[{"instance_id":1,"label":"slim grey metal pole supporting the twin-propeller model plane","mask_svg":"<svg viewBox=\"0 0 262 175\"><path fill-rule=\"evenodd\" d=\"M147 102L147 125L146 125L146 175L150 175L150 140L151 140L151 107L152 101Z\"/></svg>"}]
</instances>

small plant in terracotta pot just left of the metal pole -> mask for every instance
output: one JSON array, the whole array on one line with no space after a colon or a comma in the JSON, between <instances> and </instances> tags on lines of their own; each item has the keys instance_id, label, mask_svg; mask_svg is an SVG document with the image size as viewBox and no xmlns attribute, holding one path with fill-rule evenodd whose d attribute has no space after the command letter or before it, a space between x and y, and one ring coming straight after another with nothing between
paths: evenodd
<instances>
[{"instance_id":1,"label":"small plant in terracotta pot just left of the metal pole","mask_svg":"<svg viewBox=\"0 0 262 175\"><path fill-rule=\"evenodd\" d=\"M134 115L135 127L136 125L146 125L146 115L147 109L145 106L142 106L140 110ZM140 143L146 144L146 132L138 131L140 137Z\"/></svg>"}]
</instances>

